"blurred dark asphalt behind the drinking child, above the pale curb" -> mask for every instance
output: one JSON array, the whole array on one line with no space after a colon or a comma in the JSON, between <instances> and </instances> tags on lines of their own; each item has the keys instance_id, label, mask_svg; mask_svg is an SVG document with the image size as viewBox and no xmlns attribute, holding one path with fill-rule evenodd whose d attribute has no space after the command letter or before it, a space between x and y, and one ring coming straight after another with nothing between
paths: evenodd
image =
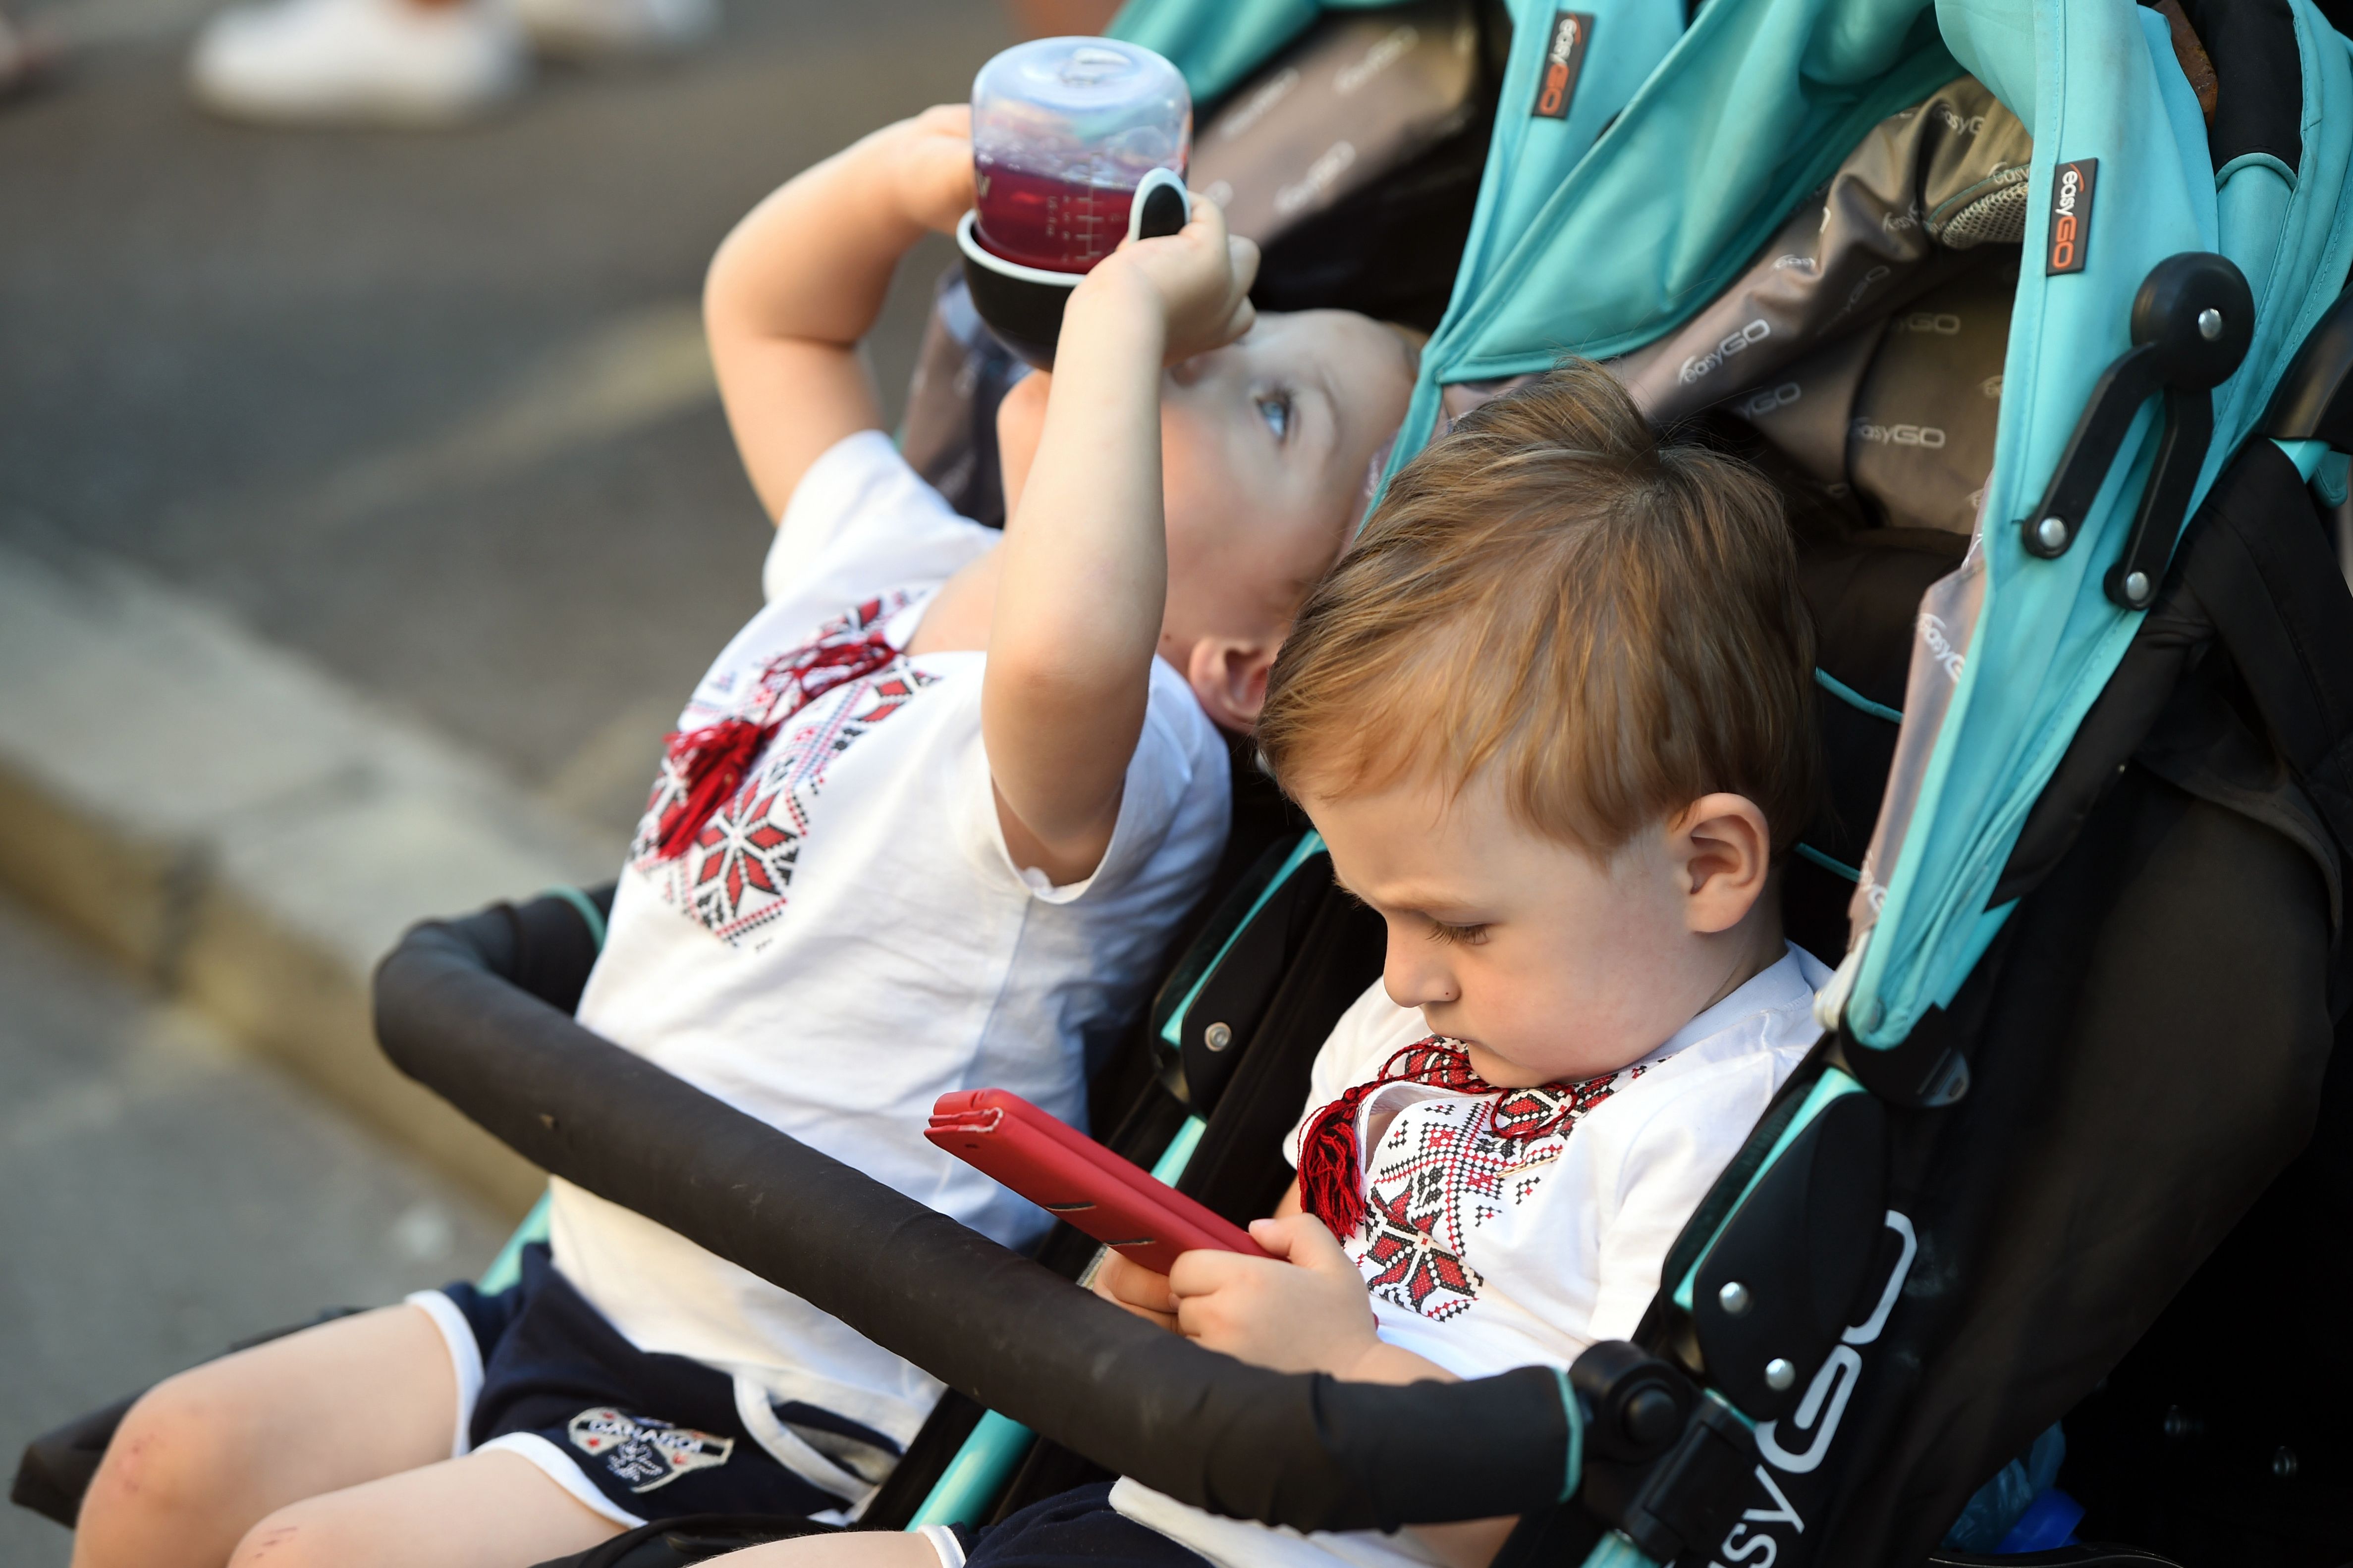
<instances>
[{"instance_id":1,"label":"blurred dark asphalt behind the drinking child, above the pale curb","mask_svg":"<svg viewBox=\"0 0 2353 1568\"><path fill-rule=\"evenodd\" d=\"M807 162L962 99L1000 9L736 0L692 59L548 68L424 136L200 118L200 0L49 14L96 42L0 108L0 543L221 607L619 856L758 604L765 520L694 322L711 249ZM892 404L948 256L901 268Z\"/></svg>"}]
</instances>

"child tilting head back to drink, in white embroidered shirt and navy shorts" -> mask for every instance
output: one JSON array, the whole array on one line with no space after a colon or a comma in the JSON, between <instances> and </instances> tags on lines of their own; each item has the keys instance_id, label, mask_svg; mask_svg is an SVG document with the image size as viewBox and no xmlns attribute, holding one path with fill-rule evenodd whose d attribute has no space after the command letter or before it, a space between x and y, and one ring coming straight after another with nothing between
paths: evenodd
<instances>
[{"instance_id":1,"label":"child tilting head back to drink, in white embroidered shirt and navy shorts","mask_svg":"<svg viewBox=\"0 0 2353 1568\"><path fill-rule=\"evenodd\" d=\"M1299 599L1405 414L1414 348L1254 320L1257 252L1195 200L1075 287L1007 395L1002 538L899 458L859 360L899 256L972 205L967 110L769 195L706 287L776 538L696 686L579 1016L1024 1246L1045 1215L922 1138L1000 1084L1082 1114L1231 813ZM791 1204L793 1194L765 1194ZM529 1568L682 1514L852 1519L939 1396L682 1237L555 1182L518 1288L426 1291L148 1392L75 1563Z\"/></svg>"}]
</instances>

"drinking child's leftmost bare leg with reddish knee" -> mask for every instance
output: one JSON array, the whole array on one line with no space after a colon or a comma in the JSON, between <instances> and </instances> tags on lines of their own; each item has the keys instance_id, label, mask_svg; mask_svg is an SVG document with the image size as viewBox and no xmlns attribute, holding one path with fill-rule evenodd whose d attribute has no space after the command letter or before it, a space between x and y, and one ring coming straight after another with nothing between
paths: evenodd
<instances>
[{"instance_id":1,"label":"drinking child's leftmost bare leg with reddish knee","mask_svg":"<svg viewBox=\"0 0 2353 1568\"><path fill-rule=\"evenodd\" d=\"M456 1373L416 1307L221 1356L132 1406L89 1481L73 1568L221 1568L275 1509L449 1458Z\"/></svg>"}]
</instances>

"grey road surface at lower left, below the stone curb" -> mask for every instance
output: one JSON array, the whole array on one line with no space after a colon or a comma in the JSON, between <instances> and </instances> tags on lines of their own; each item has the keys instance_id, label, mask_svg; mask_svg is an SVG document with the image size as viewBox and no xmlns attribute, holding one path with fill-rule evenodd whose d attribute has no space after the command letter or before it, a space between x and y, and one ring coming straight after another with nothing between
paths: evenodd
<instances>
[{"instance_id":1,"label":"grey road surface at lower left, below the stone curb","mask_svg":"<svg viewBox=\"0 0 2353 1568\"><path fill-rule=\"evenodd\" d=\"M329 1305L475 1274L504 1225L0 903L0 1465ZM68 1535L0 1507L0 1568Z\"/></svg>"}]
</instances>

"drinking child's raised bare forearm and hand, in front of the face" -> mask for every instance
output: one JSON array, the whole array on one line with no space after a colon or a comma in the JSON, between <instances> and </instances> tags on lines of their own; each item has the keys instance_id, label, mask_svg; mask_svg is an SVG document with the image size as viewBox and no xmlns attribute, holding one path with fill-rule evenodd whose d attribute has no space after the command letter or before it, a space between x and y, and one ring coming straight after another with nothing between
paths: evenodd
<instances>
[{"instance_id":1,"label":"drinking child's raised bare forearm and hand, in front of the face","mask_svg":"<svg viewBox=\"0 0 2353 1568\"><path fill-rule=\"evenodd\" d=\"M1054 882L1101 863L1144 731L1167 614L1160 369L1249 329L1257 259L1195 200L1181 233L1122 244L1064 310L981 691L1007 846Z\"/></svg>"}]
</instances>

